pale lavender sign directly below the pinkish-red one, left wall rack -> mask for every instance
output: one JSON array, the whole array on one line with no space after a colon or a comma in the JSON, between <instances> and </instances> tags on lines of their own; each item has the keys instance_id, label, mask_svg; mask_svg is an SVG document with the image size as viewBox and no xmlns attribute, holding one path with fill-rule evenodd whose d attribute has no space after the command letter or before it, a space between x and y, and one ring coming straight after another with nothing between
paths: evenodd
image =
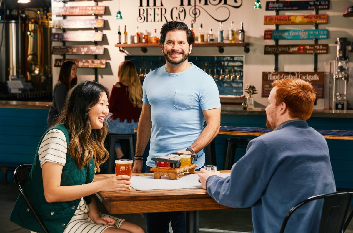
<instances>
[{"instance_id":1,"label":"pale lavender sign directly below the pinkish-red one, left wall rack","mask_svg":"<svg viewBox=\"0 0 353 233\"><path fill-rule=\"evenodd\" d=\"M64 19L54 20L53 27L58 28L103 28L104 19Z\"/></svg>"}]
</instances>

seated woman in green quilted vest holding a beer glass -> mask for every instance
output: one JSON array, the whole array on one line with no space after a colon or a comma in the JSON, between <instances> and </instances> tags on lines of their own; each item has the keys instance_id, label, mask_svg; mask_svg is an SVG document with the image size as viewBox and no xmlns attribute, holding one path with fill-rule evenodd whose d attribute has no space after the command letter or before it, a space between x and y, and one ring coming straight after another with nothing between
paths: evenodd
<instances>
[{"instance_id":1,"label":"seated woman in green quilted vest holding a beer glass","mask_svg":"<svg viewBox=\"0 0 353 233\"><path fill-rule=\"evenodd\" d=\"M103 146L107 135L108 90L84 81L68 93L55 125L43 135L29 179L23 191L49 232L142 233L130 222L98 212L92 194L125 191L126 175L92 182L108 158ZM127 179L127 180L123 180ZM42 232L22 196L19 195L10 220L35 232Z\"/></svg>"}]
</instances>

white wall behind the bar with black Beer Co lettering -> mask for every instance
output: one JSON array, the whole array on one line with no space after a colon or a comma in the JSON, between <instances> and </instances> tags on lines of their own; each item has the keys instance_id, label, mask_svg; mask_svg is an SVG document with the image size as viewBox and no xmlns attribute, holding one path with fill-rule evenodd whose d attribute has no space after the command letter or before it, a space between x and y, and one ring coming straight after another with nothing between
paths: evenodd
<instances>
[{"instance_id":1,"label":"white wall behind the bar with black Beer Co lettering","mask_svg":"<svg viewBox=\"0 0 353 233\"><path fill-rule=\"evenodd\" d=\"M63 6L60 2L54 2L52 0L52 6ZM146 1L143 0L143 8L146 9ZM156 0L157 6L160 6L161 0ZM170 12L173 7L178 7L180 2L183 0L162 0L163 7L166 8L166 18L171 20ZM184 5L187 5L188 0L184 0ZM203 5L207 1L209 5ZM217 7L223 6L225 0L202 0L201 6L208 11L213 17L217 19L225 19L228 16L228 11L224 8L216 10ZM193 3L194 1L191 0ZM197 0L197 5L199 0ZM222 2L218 6L212 6L212 4L217 4ZM228 0L229 5L240 5L241 0L238 3L235 1ZM115 47L116 31L118 30L118 25L120 25L120 30L124 30L124 25L127 27L127 32L130 35L135 34L136 27L139 27L139 31L144 32L147 29L150 33L154 29L159 32L163 22L143 22L138 21L140 0L120 0L120 11L122 12L122 20L116 20L115 14L118 10L118 0L104 0L99 1L98 5L106 6L106 14L102 16L105 21L105 27L103 28L103 41L98 42L98 45L104 45L104 55L98 56L98 58L108 59L108 65L106 69L98 69L99 82L110 89L112 85L117 81L118 65L124 60L125 54L119 52L119 48ZM152 6L153 0L150 0L150 5ZM235 22L237 29L240 28L240 21L244 22L244 29L246 39L245 42L250 42L250 53L244 53L243 47L225 47L225 52L222 56L227 55L245 55L244 62L244 84L251 83L255 85L258 89L261 89L261 78L262 71L273 71L274 68L274 56L264 55L264 45L273 45L273 40L263 40L264 30L274 30L274 25L263 25L263 19L265 15L274 15L274 11L265 11L266 1L262 1L263 8L261 10L254 10L253 0L243 0L241 7L233 8L227 6L230 10L231 17L223 23L225 28L225 34L228 34L228 28L231 21ZM91 6L94 2L82 1L82 2L68 2L66 6ZM330 10L319 11L319 14L328 14L329 23L327 25L319 25L319 29L329 30L328 40L319 40L319 43L329 44L329 54L323 54L318 56L318 71L328 71L325 69L325 62L335 59L336 47L335 41L337 37L347 37L349 41L353 41L353 18L344 18L342 16L345 9L353 5L353 0L331 0ZM192 17L189 15L189 10L191 6L184 6L186 10L186 18L183 22L190 26ZM154 7L150 7L154 8ZM156 7L160 9L161 7ZM151 10L149 10L151 11ZM176 10L174 12L174 19ZM280 11L280 14L314 14L313 11ZM101 16L100 16L101 17ZM94 16L70 16L67 18L94 18ZM54 19L61 19L61 17L55 17ZM198 28L200 23L203 23L204 31L207 33L210 28L216 31L219 27L219 22L212 19L204 10L201 10L200 16L196 19L194 24L195 33L198 33ZM280 25L280 29L313 29L313 25ZM53 30L55 31L55 29ZM58 30L60 31L60 30ZM280 40L280 44L303 44L303 43L314 43L311 40ZM91 42L66 42L67 45L90 45ZM61 45L61 42L53 42L53 45ZM159 48L148 48L148 53L144 54L141 52L140 48L130 48L128 52L131 55L161 55ZM199 47L192 49L192 55L198 56L214 56L220 55L217 47ZM353 61L353 53L350 53L351 61ZM61 56L53 55L53 61L55 58L61 58ZM67 56L67 58L94 58L93 56ZM312 55L280 55L279 56L279 71L313 71L313 56ZM351 77L353 77L353 62L351 65ZM57 81L59 74L59 68L53 68L53 83ZM88 68L78 69L79 81L83 80L94 80L94 70ZM328 78L327 78L328 79ZM326 80L328 83L328 80ZM353 83L351 81L350 85L351 92L351 102L353 103ZM325 86L325 94L328 93L329 85ZM266 105L267 98L261 98L261 92L254 95L255 101ZM328 107L328 96L324 99L318 99L316 109L323 109Z\"/></svg>"}]
</instances>

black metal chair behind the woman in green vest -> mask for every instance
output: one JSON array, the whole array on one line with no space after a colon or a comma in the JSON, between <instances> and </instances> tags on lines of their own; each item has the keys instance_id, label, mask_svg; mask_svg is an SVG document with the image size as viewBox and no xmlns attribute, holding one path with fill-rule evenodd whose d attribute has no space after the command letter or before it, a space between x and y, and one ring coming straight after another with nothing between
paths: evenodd
<instances>
[{"instance_id":1,"label":"black metal chair behind the woman in green vest","mask_svg":"<svg viewBox=\"0 0 353 233\"><path fill-rule=\"evenodd\" d=\"M29 207L29 209L27 209L27 210L32 211L32 213L35 216L35 218L37 219L38 223L41 225L44 233L48 233L47 228L44 226L43 222L39 219L38 215L34 211L33 206L31 205L31 203L29 202L28 198L26 197L26 195L24 194L24 192L22 190L23 185L28 180L28 175L29 175L29 172L31 171L31 169L32 169L32 164L19 165L13 173L13 179L17 185L18 191L20 191L23 199L25 200L25 202L27 203L27 205Z\"/></svg>"}]
</instances>

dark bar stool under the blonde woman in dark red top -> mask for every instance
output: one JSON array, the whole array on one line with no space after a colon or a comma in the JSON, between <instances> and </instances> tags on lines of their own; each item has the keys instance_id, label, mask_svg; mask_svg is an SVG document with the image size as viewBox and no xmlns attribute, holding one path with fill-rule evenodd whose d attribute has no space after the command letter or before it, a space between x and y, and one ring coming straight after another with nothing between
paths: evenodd
<instances>
[{"instance_id":1,"label":"dark bar stool under the blonde woman in dark red top","mask_svg":"<svg viewBox=\"0 0 353 233\"><path fill-rule=\"evenodd\" d=\"M114 152L115 152L115 142L117 139L126 139L129 143L130 148L130 159L134 156L134 149L133 149L133 134L108 134L109 136L109 158L107 164L107 173L113 173L113 164L114 164Z\"/></svg>"}]
</instances>

